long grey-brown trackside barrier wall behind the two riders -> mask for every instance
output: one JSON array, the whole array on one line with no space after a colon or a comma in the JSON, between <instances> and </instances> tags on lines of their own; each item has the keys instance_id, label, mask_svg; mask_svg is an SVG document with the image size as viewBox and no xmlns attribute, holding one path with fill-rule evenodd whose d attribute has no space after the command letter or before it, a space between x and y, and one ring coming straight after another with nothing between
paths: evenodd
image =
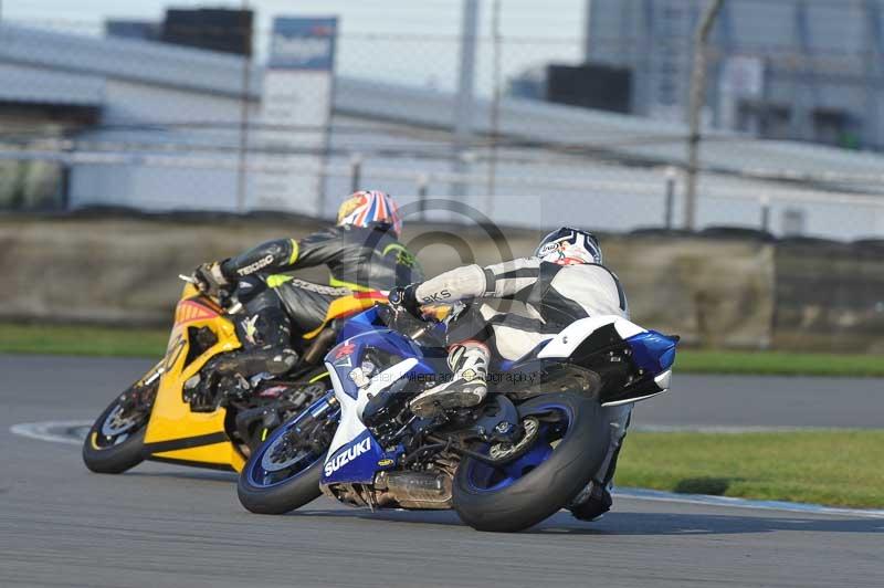
<instances>
[{"instance_id":1,"label":"long grey-brown trackside barrier wall behind the two riders","mask_svg":"<svg viewBox=\"0 0 884 588\"><path fill-rule=\"evenodd\" d=\"M0 220L0 319L165 325L180 293L179 273L316 227L280 216L7 218ZM539 237L506 230L497 243L481 228L411 223L404 240L432 275L529 254ZM812 242L653 234L609 235L602 245L633 321L680 334L687 344L884 351L880 254L857 258L854 248ZM326 279L324 270L302 275Z\"/></svg>"}]
</instances>

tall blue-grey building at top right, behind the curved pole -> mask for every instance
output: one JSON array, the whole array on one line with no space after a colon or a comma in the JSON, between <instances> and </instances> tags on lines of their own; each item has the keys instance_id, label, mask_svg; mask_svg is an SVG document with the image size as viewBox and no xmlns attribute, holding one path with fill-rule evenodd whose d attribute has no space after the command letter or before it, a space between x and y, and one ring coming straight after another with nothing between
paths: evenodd
<instances>
[{"instance_id":1,"label":"tall blue-grey building at top right, behind the curved pole","mask_svg":"<svg viewBox=\"0 0 884 588\"><path fill-rule=\"evenodd\" d=\"M708 0L592 0L586 59L629 67L632 112L683 119ZM757 137L884 149L884 1L728 0L708 114Z\"/></svg>"}]
</instances>

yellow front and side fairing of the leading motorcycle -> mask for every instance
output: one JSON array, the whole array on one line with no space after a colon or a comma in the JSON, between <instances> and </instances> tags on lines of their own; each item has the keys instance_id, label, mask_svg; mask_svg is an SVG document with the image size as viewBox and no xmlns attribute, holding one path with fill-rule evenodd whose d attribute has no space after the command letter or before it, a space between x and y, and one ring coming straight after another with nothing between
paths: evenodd
<instances>
[{"instance_id":1,"label":"yellow front and side fairing of the leading motorcycle","mask_svg":"<svg viewBox=\"0 0 884 588\"><path fill-rule=\"evenodd\" d=\"M218 342L193 358L187 367L190 351L189 329L208 327ZM240 471L243 455L230 442L224 427L227 410L192 412L185 402L185 382L194 376L210 358L241 347L236 332L223 311L201 296L190 284L185 286L175 313L175 326L169 337L166 358L156 369L162 370L154 410L145 433L148 459L173 460L192 465ZM148 376L149 377L149 376Z\"/></svg>"}]
</instances>

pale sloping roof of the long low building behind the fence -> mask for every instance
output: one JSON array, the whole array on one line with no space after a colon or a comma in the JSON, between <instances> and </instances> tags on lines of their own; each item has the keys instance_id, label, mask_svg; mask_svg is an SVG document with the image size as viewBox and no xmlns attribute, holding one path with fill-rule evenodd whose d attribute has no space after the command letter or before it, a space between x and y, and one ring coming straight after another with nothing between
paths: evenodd
<instances>
[{"instance_id":1,"label":"pale sloping roof of the long low building behind the fence","mask_svg":"<svg viewBox=\"0 0 884 588\"><path fill-rule=\"evenodd\" d=\"M106 77L240 96L244 63L236 55L192 48L0 23L0 76L6 78L0 99L96 105ZM252 69L252 98L260 95L262 75L261 66ZM451 130L454 98L438 90L338 77L334 108L341 115ZM478 136L492 133L491 120L490 101L477 98L473 123ZM525 147L642 167L686 162L684 125L524 98L501 102L498 125L505 141ZM884 180L878 154L733 133L706 134L702 162L709 171L757 178L785 174L842 191L881 192ZM845 181L843 176L859 178Z\"/></svg>"}]
</instances>

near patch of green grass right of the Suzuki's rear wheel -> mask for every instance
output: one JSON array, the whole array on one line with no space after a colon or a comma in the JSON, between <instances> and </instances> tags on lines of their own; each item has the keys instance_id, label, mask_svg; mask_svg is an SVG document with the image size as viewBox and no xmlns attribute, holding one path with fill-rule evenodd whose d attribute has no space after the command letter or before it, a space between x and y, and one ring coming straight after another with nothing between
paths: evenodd
<instances>
[{"instance_id":1,"label":"near patch of green grass right of the Suzuki's rear wheel","mask_svg":"<svg viewBox=\"0 0 884 588\"><path fill-rule=\"evenodd\" d=\"M688 494L884 507L884 430L632 432L615 482Z\"/></svg>"}]
</instances>

